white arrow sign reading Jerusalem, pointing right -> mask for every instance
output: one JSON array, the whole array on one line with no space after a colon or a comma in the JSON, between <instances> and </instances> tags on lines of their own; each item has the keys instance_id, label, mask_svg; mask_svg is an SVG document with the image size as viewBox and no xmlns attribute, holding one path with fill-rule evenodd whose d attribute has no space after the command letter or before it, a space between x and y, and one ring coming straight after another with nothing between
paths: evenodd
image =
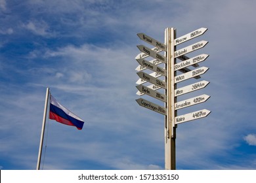
<instances>
[{"instance_id":1,"label":"white arrow sign reading Jerusalem, pointing right","mask_svg":"<svg viewBox=\"0 0 256 183\"><path fill-rule=\"evenodd\" d=\"M204 103L205 101L207 101L207 99L209 99L209 95L200 95L197 97L193 97L191 99L186 99L184 101L180 101L178 103L175 103L175 110L184 108L184 107L190 107L192 105L196 105L199 103Z\"/></svg>"}]
</instances>

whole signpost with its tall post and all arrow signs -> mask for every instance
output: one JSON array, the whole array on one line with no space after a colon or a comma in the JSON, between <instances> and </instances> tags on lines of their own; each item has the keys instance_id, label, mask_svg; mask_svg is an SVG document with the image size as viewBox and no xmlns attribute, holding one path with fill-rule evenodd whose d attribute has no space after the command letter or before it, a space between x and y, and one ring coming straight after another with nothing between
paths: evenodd
<instances>
[{"instance_id":1,"label":"whole signpost with its tall post and all arrow signs","mask_svg":"<svg viewBox=\"0 0 256 183\"><path fill-rule=\"evenodd\" d=\"M176 38L176 29L167 28L165 29L165 42L162 43L144 33L138 33L138 37L154 46L154 48L148 48L140 44L137 46L142 52L136 56L139 66L136 71L139 71L140 79L136 82L139 84L137 89L137 95L148 95L149 97L154 97L160 102L163 102L164 107L157 105L146 99L139 98L137 103L150 110L154 110L165 116L165 169L176 169L176 152L175 152L175 139L176 139L176 129L177 125L183 124L184 122L189 122L192 120L198 120L200 118L205 118L211 111L207 109L198 110L195 112L190 112L188 114L179 114L178 110L182 108L190 108L194 105L205 103L209 99L209 95L198 95L183 101L177 102L177 97L190 92L196 92L202 88L205 88L209 82L202 80L194 84L189 84L177 88L177 84L188 80L189 78L201 78L200 76L206 73L209 69L208 67L199 67L198 63L202 63L209 57L207 54L200 54L198 56L193 56L192 58L186 56L196 50L203 48L208 42L199 41L190 46L186 46L179 50L176 50L176 46L182 44L183 42L190 41L195 37L200 37L207 31L207 28L200 28L187 33L181 37ZM164 52L164 54L160 54ZM151 61L146 60L146 58L152 57ZM177 59L181 61L178 63ZM164 64L165 67L160 67L158 65ZM189 67L198 67L196 69L190 69ZM149 69L154 71L154 73L145 73L144 70ZM182 74L177 75L177 72ZM165 80L161 80L158 77L163 76ZM146 82L150 82L149 86L142 85ZM157 92L156 90L163 90L164 93Z\"/></svg>"}]
</instances>

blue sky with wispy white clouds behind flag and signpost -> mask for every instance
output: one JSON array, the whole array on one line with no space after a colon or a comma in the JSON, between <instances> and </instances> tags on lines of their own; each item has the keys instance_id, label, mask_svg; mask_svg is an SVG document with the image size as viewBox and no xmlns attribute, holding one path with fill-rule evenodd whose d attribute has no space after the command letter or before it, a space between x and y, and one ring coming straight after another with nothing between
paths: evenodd
<instances>
[{"instance_id":1,"label":"blue sky with wispy white clouds behind flag and signpost","mask_svg":"<svg viewBox=\"0 0 256 183\"><path fill-rule=\"evenodd\" d=\"M209 81L177 99L210 95L178 115L211 113L178 125L176 168L256 169L255 7L253 0L0 0L0 169L36 169L47 87L85 124L79 131L47 119L41 169L165 169L164 116L136 99L163 102L136 94L135 57L137 45L154 47L137 33L164 42L167 27L177 37L208 29L177 49L209 42L186 54L209 54L199 63L209 70L177 84Z\"/></svg>"}]
</instances>

